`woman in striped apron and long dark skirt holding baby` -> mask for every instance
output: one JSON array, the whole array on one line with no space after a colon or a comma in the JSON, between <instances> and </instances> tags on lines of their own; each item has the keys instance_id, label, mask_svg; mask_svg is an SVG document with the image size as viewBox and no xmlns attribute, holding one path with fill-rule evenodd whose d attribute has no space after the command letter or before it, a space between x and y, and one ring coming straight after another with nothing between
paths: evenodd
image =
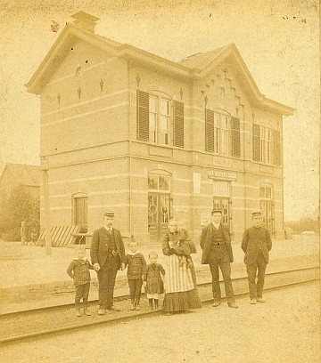
<instances>
[{"instance_id":1,"label":"woman in striped apron and long dark skirt holding baby","mask_svg":"<svg viewBox=\"0 0 321 363\"><path fill-rule=\"evenodd\" d=\"M186 262L186 257L192 258L190 246L188 241L180 239L175 220L169 221L169 233L162 241L162 252L167 256L163 310L174 312L200 308L200 297Z\"/></svg>"}]
</instances>

